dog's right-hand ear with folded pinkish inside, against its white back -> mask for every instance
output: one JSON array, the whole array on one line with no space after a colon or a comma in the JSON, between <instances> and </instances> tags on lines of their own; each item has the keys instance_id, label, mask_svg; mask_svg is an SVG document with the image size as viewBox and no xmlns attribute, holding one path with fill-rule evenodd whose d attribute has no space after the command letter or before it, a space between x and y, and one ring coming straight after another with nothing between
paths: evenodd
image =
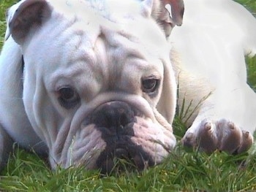
<instances>
[{"instance_id":1,"label":"dog's right-hand ear with folded pinkish inside, against its white back","mask_svg":"<svg viewBox=\"0 0 256 192\"><path fill-rule=\"evenodd\" d=\"M184 15L183 0L144 0L144 13L151 15L165 31L166 37L174 26L181 26Z\"/></svg>"}]
</instances>

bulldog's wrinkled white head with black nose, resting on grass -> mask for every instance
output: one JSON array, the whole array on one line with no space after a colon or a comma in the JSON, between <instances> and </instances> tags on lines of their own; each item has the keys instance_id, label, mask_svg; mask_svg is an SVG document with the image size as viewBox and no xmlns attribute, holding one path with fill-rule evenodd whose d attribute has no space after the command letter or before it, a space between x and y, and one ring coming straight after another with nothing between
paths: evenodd
<instances>
[{"instance_id":1,"label":"bulldog's wrinkled white head with black nose, resting on grass","mask_svg":"<svg viewBox=\"0 0 256 192\"><path fill-rule=\"evenodd\" d=\"M10 10L24 106L53 168L110 171L114 158L126 158L143 169L176 144L176 82L170 45L151 17L156 6L26 0Z\"/></svg>"}]
</instances>

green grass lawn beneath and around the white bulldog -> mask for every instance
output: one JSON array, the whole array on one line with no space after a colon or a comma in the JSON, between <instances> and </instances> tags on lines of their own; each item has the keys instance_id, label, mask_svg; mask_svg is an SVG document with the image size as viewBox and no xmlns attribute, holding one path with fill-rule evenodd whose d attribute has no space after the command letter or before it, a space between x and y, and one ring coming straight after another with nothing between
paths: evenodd
<instances>
[{"instance_id":1,"label":"green grass lawn beneath and around the white bulldog","mask_svg":"<svg viewBox=\"0 0 256 192\"><path fill-rule=\"evenodd\" d=\"M0 3L0 46L3 42L4 10L14 0ZM255 0L239 0L256 12ZM256 88L256 58L246 58L249 83ZM173 123L178 139L185 127L176 118ZM252 148L252 150L254 150ZM243 153L187 152L178 144L160 164L143 172L125 169L104 176L83 167L51 171L48 164L33 153L17 149L1 172L0 191L256 191L256 155Z\"/></svg>"}]
</instances>

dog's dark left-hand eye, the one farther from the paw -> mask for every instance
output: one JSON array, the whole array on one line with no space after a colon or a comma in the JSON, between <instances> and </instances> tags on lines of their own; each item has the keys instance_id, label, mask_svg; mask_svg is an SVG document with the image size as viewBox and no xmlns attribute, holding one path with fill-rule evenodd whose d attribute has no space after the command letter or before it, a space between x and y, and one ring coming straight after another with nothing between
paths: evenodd
<instances>
[{"instance_id":1,"label":"dog's dark left-hand eye, the one farther from the paw","mask_svg":"<svg viewBox=\"0 0 256 192\"><path fill-rule=\"evenodd\" d=\"M71 109L80 101L78 93L73 88L64 87L59 89L59 103L62 107Z\"/></svg>"}]
</instances>

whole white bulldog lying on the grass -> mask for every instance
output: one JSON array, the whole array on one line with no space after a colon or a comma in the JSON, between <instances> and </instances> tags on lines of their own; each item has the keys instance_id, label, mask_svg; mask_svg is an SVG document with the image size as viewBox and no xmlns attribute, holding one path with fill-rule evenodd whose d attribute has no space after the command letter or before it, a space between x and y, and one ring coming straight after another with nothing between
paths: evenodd
<instances>
[{"instance_id":1,"label":"whole white bulldog lying on the grass","mask_svg":"<svg viewBox=\"0 0 256 192\"><path fill-rule=\"evenodd\" d=\"M116 158L144 169L175 147L175 114L185 146L248 150L256 96L244 53L256 53L255 32L233 1L18 2L0 56L1 169L14 142L53 169L110 172Z\"/></svg>"}]
</instances>

